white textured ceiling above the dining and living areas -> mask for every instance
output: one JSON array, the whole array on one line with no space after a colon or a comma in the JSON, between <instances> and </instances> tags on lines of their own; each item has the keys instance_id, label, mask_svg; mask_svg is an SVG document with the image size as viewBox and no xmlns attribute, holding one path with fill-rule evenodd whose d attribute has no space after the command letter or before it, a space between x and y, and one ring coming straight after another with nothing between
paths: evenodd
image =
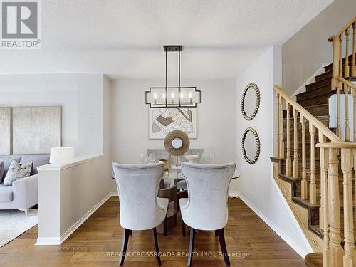
<instances>
[{"instance_id":1,"label":"white textured ceiling above the dining and living areas","mask_svg":"<svg viewBox=\"0 0 356 267\"><path fill-rule=\"evenodd\" d=\"M182 44L182 77L235 78L333 0L42 0L42 48L0 51L0 73L164 76Z\"/></svg>"}]
</instances>

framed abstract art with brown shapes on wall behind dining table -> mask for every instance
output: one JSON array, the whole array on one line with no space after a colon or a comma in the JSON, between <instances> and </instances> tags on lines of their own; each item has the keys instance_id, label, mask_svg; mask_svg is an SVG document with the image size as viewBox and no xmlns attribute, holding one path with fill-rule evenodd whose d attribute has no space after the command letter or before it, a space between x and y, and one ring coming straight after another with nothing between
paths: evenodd
<instances>
[{"instance_id":1,"label":"framed abstract art with brown shapes on wall behind dining table","mask_svg":"<svg viewBox=\"0 0 356 267\"><path fill-rule=\"evenodd\" d=\"M149 138L164 139L174 130L197 138L197 108L149 108Z\"/></svg>"}]
</instances>

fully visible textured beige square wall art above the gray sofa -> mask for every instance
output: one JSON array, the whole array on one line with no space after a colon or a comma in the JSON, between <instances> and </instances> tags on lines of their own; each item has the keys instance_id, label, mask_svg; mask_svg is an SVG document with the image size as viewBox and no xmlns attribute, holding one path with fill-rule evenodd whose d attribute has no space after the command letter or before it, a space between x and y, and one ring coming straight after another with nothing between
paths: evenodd
<instances>
[{"instance_id":1,"label":"fully visible textured beige square wall art above the gray sofa","mask_svg":"<svg viewBox=\"0 0 356 267\"><path fill-rule=\"evenodd\" d=\"M51 107L14 107L12 135L14 154L47 154L61 147L62 109Z\"/></svg>"}]
</instances>

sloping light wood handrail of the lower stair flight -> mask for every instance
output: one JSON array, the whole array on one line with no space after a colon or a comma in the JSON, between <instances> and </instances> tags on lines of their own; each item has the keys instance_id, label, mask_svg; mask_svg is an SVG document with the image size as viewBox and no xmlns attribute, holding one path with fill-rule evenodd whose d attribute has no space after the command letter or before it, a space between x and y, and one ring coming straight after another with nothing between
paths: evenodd
<instances>
[{"instance_id":1,"label":"sloping light wood handrail of the lower stair flight","mask_svg":"<svg viewBox=\"0 0 356 267\"><path fill-rule=\"evenodd\" d=\"M292 105L295 110L297 110L301 116L305 117L309 122L311 122L320 132L323 132L323 135L327 137L331 142L342 142L340 137L337 137L335 133L333 133L328 127L323 125L320 120L310 114L308 110L305 110L300 104L298 104L295 100L290 98L286 92L283 91L278 85L273 85L273 89L276 90L278 94L280 94L290 105Z\"/></svg>"}]
</instances>

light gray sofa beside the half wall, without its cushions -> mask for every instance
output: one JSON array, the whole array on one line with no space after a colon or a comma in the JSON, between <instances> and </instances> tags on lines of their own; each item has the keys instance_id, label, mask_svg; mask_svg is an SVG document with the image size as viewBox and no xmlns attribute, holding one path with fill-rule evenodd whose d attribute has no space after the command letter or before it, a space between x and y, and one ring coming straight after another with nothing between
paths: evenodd
<instances>
[{"instance_id":1,"label":"light gray sofa beside the half wall, without its cushions","mask_svg":"<svg viewBox=\"0 0 356 267\"><path fill-rule=\"evenodd\" d=\"M33 161L31 176L16 180L11 186L3 184L5 175L13 160L20 164ZM25 211L37 204L37 167L49 163L49 155L3 155L0 162L4 162L4 176L0 177L0 209L19 209Z\"/></svg>"}]
</instances>

